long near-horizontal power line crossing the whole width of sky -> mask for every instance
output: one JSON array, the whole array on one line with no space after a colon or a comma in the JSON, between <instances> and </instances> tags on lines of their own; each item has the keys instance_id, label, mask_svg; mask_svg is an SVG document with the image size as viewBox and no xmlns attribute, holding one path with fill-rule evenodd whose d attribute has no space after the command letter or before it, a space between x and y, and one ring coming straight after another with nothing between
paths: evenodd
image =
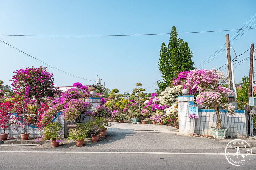
<instances>
[{"instance_id":1,"label":"long near-horizontal power line crossing the whole width of sky","mask_svg":"<svg viewBox=\"0 0 256 170\"><path fill-rule=\"evenodd\" d=\"M256 28L246 29L231 29L231 30L215 30L215 31L197 31L197 32L184 32L184 33L210 33L220 31L236 31L236 30L249 30ZM113 37L113 36L141 36L141 35L166 35L170 33L158 33L158 34L128 34L128 35L0 35L0 36L25 36L25 37ZM178 33L183 34L183 33Z\"/></svg>"}]
</instances>

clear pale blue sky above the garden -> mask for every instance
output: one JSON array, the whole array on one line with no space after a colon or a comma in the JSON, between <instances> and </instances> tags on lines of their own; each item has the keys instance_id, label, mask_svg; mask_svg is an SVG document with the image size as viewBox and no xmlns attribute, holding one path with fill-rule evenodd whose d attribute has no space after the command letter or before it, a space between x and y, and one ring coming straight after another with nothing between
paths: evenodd
<instances>
[{"instance_id":1,"label":"clear pale blue sky above the garden","mask_svg":"<svg viewBox=\"0 0 256 170\"><path fill-rule=\"evenodd\" d=\"M211 3L167 0L0 0L0 35L160 34L170 33L172 26L176 26L179 38L188 42L193 52L195 66L199 66L199 69L218 69L226 63L223 46L225 34L229 34L231 47L240 55L250 48L251 43L256 44L256 29L243 32L184 32L241 29L255 14L253 0ZM243 28L256 28L254 19L256 16ZM75 78L46 66L54 74L57 86L70 86L74 82L93 85L98 74L110 90L117 88L122 93L131 93L136 87L135 83L141 82L142 88L146 88L148 93L158 88L155 82L161 79L157 64L160 47L162 42L168 44L169 37L169 34L110 37L0 36L0 40L60 70L92 80ZM213 55L216 51L218 56ZM211 55L214 58L204 62ZM11 84L9 80L15 70L45 66L2 42L0 56L0 79L4 85ZM250 51L247 51L237 61L249 56ZM231 59L234 57L231 51ZM249 59L237 64L234 62L234 67L235 82L249 75ZM225 68L220 70L224 69L222 71L227 73Z\"/></svg>"}]
</instances>

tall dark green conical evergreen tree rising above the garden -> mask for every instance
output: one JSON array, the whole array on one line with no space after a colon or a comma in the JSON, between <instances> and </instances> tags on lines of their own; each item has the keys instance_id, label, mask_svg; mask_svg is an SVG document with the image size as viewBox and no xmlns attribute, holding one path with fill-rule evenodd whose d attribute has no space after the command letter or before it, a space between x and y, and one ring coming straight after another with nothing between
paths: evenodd
<instances>
[{"instance_id":1,"label":"tall dark green conical evergreen tree rising above the garden","mask_svg":"<svg viewBox=\"0 0 256 170\"><path fill-rule=\"evenodd\" d=\"M179 39L176 27L172 27L168 48L162 43L158 68L162 73L164 81L157 82L163 91L169 86L173 78L177 78L180 71L191 71L195 69L192 61L193 53L188 47L188 42Z\"/></svg>"}]
</instances>

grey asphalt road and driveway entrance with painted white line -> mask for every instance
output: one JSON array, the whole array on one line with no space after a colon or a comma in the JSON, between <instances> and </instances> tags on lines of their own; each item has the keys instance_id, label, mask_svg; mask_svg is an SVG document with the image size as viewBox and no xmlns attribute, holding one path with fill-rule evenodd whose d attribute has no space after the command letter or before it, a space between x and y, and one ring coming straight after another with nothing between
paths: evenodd
<instances>
[{"instance_id":1,"label":"grey asphalt road and driveway entrance with painted white line","mask_svg":"<svg viewBox=\"0 0 256 170\"><path fill-rule=\"evenodd\" d=\"M226 144L175 133L107 132L83 147L63 140L59 147L0 145L0 169L255 169L256 149L242 166L231 165ZM230 152L235 154L236 149ZM240 155L246 154L245 148ZM232 157L232 156L231 156ZM232 157L233 158L233 157Z\"/></svg>"}]
</instances>

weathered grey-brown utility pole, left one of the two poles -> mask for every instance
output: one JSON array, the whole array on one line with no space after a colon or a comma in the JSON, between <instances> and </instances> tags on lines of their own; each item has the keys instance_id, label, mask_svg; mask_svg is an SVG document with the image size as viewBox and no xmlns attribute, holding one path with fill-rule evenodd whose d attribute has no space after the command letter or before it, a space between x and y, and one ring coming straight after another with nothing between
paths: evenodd
<instances>
[{"instance_id":1,"label":"weathered grey-brown utility pole, left one of the two poles","mask_svg":"<svg viewBox=\"0 0 256 170\"><path fill-rule=\"evenodd\" d=\"M226 48L230 46L229 43L229 34L226 34ZM227 49L227 70L228 70L228 88L233 89L232 85L232 72L231 72L231 57L230 57L230 48Z\"/></svg>"}]
</instances>

